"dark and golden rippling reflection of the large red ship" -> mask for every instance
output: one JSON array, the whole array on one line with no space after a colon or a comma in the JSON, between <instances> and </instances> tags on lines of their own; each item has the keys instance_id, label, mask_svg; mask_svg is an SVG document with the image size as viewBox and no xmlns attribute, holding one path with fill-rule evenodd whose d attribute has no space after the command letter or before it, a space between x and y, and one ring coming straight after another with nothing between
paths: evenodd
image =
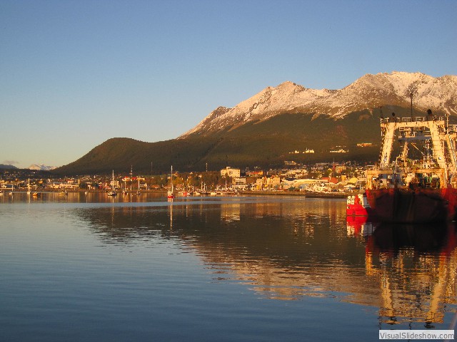
<instances>
[{"instance_id":1,"label":"dark and golden rippling reflection of the large red ship","mask_svg":"<svg viewBox=\"0 0 457 342\"><path fill-rule=\"evenodd\" d=\"M378 286L382 323L405 319L427 328L456 304L454 224L376 224L348 218L348 232L364 234L366 276ZM376 285L375 285L376 284Z\"/></svg>"}]
</instances>

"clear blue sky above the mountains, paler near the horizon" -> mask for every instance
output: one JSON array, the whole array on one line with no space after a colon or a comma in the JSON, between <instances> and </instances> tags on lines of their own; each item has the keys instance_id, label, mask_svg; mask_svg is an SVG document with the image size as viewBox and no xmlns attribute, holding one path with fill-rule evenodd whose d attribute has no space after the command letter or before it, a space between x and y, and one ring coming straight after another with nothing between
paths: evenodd
<instances>
[{"instance_id":1,"label":"clear blue sky above the mountains, paler near the horizon","mask_svg":"<svg viewBox=\"0 0 457 342\"><path fill-rule=\"evenodd\" d=\"M169 140L293 81L456 75L457 1L0 0L0 163Z\"/></svg>"}]
</instances>

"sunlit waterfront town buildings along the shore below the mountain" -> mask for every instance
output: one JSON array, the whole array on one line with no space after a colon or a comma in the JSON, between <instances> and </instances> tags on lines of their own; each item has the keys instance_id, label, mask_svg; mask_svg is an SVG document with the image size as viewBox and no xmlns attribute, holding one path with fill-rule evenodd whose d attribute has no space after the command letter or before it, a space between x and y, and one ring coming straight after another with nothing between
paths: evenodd
<instances>
[{"instance_id":1,"label":"sunlit waterfront town buildings along the shore below the mountain","mask_svg":"<svg viewBox=\"0 0 457 342\"><path fill-rule=\"evenodd\" d=\"M322 162L299 165L285 162L281 169L261 170L225 167L218 171L179 172L172 175L174 191L179 196L217 195L234 192L338 193L361 191L365 185L365 169L351 162ZM52 172L29 169L0 170L0 191L56 192L166 192L171 188L171 173L136 175L130 172L111 175L57 177Z\"/></svg>"}]
</instances>

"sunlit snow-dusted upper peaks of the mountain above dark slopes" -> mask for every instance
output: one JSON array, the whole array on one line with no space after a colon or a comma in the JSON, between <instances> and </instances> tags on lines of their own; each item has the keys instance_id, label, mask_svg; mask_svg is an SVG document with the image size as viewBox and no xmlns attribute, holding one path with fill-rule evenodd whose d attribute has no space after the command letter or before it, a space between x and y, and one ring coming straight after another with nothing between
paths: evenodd
<instances>
[{"instance_id":1,"label":"sunlit snow-dusted upper peaks of the mountain above dark slopes","mask_svg":"<svg viewBox=\"0 0 457 342\"><path fill-rule=\"evenodd\" d=\"M268 87L234 108L219 107L195 128L179 138L196 133L206 135L252 120L266 120L283 113L309 113L343 118L360 110L373 110L385 105L408 108L413 93L415 110L457 115L457 76L433 78L423 73L367 74L345 88L316 90L286 81Z\"/></svg>"}]
</instances>

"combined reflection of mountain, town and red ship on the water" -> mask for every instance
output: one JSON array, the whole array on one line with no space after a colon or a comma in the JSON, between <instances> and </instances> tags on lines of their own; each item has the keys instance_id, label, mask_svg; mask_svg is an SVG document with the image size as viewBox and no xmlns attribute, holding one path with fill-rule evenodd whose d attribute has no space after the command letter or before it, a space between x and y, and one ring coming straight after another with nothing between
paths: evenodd
<instances>
[{"instance_id":1,"label":"combined reflection of mountain, town and red ship on the water","mask_svg":"<svg viewBox=\"0 0 457 342\"><path fill-rule=\"evenodd\" d=\"M379 323L443 323L456 309L454 226L346 221L328 199L183 199L79 210L106 244L171 239L195 253L213 282L261 298L332 297L366 306Z\"/></svg>"}]
</instances>

